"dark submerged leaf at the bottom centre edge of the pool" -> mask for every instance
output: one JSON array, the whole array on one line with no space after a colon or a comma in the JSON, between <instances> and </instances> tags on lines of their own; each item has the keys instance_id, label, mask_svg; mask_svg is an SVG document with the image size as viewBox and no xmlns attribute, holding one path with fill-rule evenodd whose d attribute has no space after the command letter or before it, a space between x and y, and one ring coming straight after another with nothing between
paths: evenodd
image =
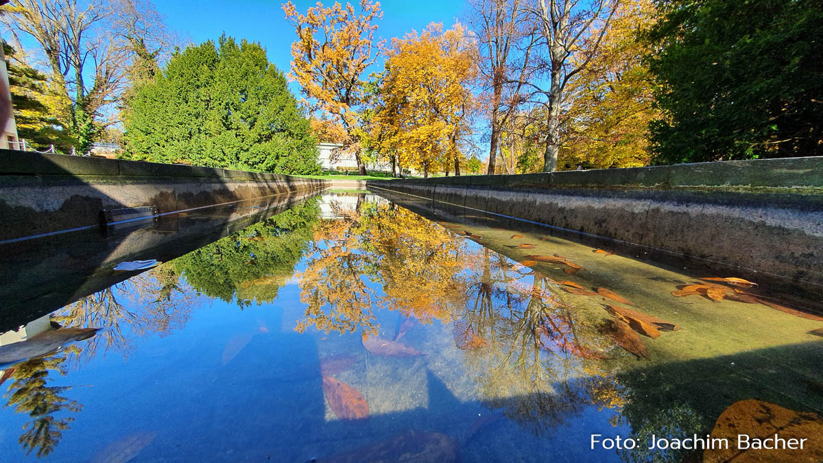
<instances>
[{"instance_id":1,"label":"dark submerged leaf at the bottom centre edge of the pool","mask_svg":"<svg viewBox=\"0 0 823 463\"><path fill-rule=\"evenodd\" d=\"M452 463L458 461L458 450L458 442L444 434L412 430L332 456L328 461L336 463L360 463L361 461Z\"/></svg>"}]
</instances>

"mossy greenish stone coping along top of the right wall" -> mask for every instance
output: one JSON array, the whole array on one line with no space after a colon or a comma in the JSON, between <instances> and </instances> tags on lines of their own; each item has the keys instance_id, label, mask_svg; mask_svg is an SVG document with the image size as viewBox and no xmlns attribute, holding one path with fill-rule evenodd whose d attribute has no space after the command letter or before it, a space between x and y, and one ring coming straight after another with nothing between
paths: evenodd
<instances>
[{"instance_id":1,"label":"mossy greenish stone coping along top of the right wall","mask_svg":"<svg viewBox=\"0 0 823 463\"><path fill-rule=\"evenodd\" d=\"M823 157L715 161L673 166L559 171L520 175L462 175L392 180L407 185L511 188L723 189L823 194ZM384 180L369 180L380 185Z\"/></svg>"}]
</instances>

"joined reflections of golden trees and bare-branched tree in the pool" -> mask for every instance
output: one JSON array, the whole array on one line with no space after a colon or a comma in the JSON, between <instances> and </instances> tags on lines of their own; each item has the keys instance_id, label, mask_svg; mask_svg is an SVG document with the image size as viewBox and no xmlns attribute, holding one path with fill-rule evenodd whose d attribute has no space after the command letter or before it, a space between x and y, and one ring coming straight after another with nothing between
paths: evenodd
<instances>
[{"instance_id":1,"label":"joined reflections of golden trees and bare-branched tree in the pool","mask_svg":"<svg viewBox=\"0 0 823 463\"><path fill-rule=\"evenodd\" d=\"M588 405L621 406L598 358L602 335L551 279L394 204L339 215L319 224L300 275L309 307L298 330L379 330L375 308L455 322L481 397L534 433Z\"/></svg>"}]
</instances>

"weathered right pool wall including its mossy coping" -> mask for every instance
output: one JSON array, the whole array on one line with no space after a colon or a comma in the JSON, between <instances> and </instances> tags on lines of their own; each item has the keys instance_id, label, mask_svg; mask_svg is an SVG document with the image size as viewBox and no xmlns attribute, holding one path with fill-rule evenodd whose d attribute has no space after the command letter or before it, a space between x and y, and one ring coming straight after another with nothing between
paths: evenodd
<instances>
[{"instance_id":1,"label":"weathered right pool wall including its mossy coping","mask_svg":"<svg viewBox=\"0 0 823 463\"><path fill-rule=\"evenodd\" d=\"M368 185L823 284L823 157Z\"/></svg>"}]
</instances>

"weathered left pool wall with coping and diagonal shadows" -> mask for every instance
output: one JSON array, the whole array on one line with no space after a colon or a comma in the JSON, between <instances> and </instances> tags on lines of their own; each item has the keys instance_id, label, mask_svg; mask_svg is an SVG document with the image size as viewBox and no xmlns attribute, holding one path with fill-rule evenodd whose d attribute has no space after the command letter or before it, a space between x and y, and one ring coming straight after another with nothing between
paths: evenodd
<instances>
[{"instance_id":1,"label":"weathered left pool wall with coping and diagonal shadows","mask_svg":"<svg viewBox=\"0 0 823 463\"><path fill-rule=\"evenodd\" d=\"M151 205L170 213L328 186L291 175L0 150L0 241L94 227L103 209Z\"/></svg>"}]
</instances>

